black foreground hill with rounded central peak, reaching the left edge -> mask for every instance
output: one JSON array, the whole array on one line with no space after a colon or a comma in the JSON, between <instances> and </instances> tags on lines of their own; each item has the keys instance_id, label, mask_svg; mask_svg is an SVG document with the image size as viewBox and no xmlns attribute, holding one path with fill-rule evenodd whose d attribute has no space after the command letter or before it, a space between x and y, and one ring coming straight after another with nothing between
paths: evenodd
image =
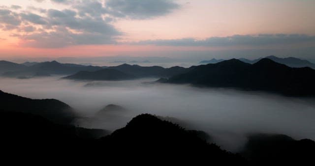
<instances>
[{"instance_id":1,"label":"black foreground hill with rounded central peak, reaching the left edge","mask_svg":"<svg viewBox=\"0 0 315 166\"><path fill-rule=\"evenodd\" d=\"M16 157L44 155L58 160L56 156L66 155L68 160L75 159L73 162L81 156L115 163L127 160L138 164L146 161L200 164L210 160L214 164L246 164L244 158L206 143L195 132L150 114L139 115L126 127L99 139L90 135L99 135L100 131L85 129L82 135L82 128L57 125L42 117L18 112L0 112L0 130L0 142L5 142L1 150L7 152L5 155L18 151L14 153Z\"/></svg>"}]
</instances>

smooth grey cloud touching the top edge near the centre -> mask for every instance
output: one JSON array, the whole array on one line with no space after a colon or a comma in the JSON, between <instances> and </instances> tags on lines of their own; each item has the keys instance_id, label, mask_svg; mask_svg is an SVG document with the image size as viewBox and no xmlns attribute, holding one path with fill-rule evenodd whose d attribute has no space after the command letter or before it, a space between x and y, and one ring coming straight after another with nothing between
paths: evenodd
<instances>
[{"instance_id":1,"label":"smooth grey cloud touching the top edge near the centre","mask_svg":"<svg viewBox=\"0 0 315 166\"><path fill-rule=\"evenodd\" d=\"M106 6L111 14L131 19L163 16L180 7L173 0L108 0Z\"/></svg>"}]
</instances>

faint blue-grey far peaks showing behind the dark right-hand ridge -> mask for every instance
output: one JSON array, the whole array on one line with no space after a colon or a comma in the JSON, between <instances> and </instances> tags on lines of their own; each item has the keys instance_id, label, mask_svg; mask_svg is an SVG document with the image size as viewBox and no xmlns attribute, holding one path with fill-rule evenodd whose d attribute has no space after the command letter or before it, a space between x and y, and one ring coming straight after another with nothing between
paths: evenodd
<instances>
[{"instance_id":1,"label":"faint blue-grey far peaks showing behind the dark right-hand ridge","mask_svg":"<svg viewBox=\"0 0 315 166\"><path fill-rule=\"evenodd\" d=\"M260 57L258 59L254 59L254 60L250 60L250 59L246 59L246 58L239 58L239 60L245 62L245 63L250 63L250 64L253 64L253 63L256 63L258 62L260 59L262 59L263 57ZM281 57L277 57L277 56L266 56L264 58L268 58L268 59L271 59L275 62L278 62L278 63L282 63L282 64L285 64L289 67L311 67L313 69L315 69L315 64L308 61L308 60L304 60L304 59L299 59L299 58L295 58L295 57L285 57L285 58L281 58ZM203 60L200 62L200 64L208 64L208 63L218 63L218 62L221 62L221 61L224 61L224 59L216 59L216 58L213 58L211 60Z\"/></svg>"}]
</instances>

